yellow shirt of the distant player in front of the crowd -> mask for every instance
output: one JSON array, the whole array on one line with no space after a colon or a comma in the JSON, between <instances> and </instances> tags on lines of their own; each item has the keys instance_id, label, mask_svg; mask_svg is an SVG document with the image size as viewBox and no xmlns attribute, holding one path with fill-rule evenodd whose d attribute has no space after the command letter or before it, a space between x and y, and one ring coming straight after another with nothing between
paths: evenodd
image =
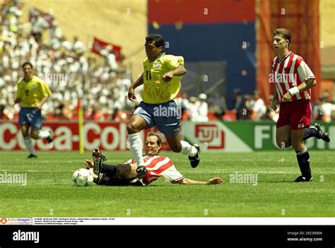
<instances>
[{"instance_id":1,"label":"yellow shirt of the distant player in front of the crowd","mask_svg":"<svg viewBox=\"0 0 335 248\"><path fill-rule=\"evenodd\" d=\"M51 91L48 85L37 76L33 76L28 82L23 78L18 81L16 98L21 99L21 107L34 107L35 102L40 102L42 98L49 95Z\"/></svg>"}]
</instances>

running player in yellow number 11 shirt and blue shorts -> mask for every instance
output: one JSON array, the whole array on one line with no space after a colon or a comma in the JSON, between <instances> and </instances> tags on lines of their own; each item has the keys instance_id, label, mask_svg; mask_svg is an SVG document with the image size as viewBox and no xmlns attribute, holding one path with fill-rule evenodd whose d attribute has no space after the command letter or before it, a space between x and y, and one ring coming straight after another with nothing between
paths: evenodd
<instances>
[{"instance_id":1,"label":"running player in yellow number 11 shirt and blue shorts","mask_svg":"<svg viewBox=\"0 0 335 248\"><path fill-rule=\"evenodd\" d=\"M186 73L184 58L165 54L163 46L162 35L151 34L146 37L147 58L143 61L143 73L128 90L129 100L134 101L135 89L143 84L143 101L127 124L128 141L138 165L139 178L146 175L142 157L143 143L139 131L153 126L165 135L171 150L189 155L192 167L198 166L200 162L199 146L191 146L186 141L181 141L181 111L174 101L180 90L180 76Z\"/></svg>"}]
</instances>

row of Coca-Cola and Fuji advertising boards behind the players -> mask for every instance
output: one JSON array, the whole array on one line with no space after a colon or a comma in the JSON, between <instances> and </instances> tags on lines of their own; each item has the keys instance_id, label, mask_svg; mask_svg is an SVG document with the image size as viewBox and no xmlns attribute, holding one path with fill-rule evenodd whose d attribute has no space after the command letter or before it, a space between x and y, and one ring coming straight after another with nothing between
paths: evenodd
<instances>
[{"instance_id":1,"label":"row of Coca-Cola and Fuji advertising boards behind the players","mask_svg":"<svg viewBox=\"0 0 335 248\"><path fill-rule=\"evenodd\" d=\"M52 150L79 150L78 124L69 122L45 122L54 134ZM335 123L322 123L322 128L335 136ZM141 132L143 137L149 131ZM163 135L161 135L163 137ZM252 152L276 150L276 124L274 122L182 122L182 138L190 143L201 144L201 151ZM46 141L35 142L37 150L50 150ZM128 150L127 124L120 122L86 122L83 127L83 143L86 150L99 147L102 150ZM335 142L310 138L309 149L335 150ZM25 150L19 126L15 122L0 122L0 150ZM169 150L163 139L163 150Z\"/></svg>"}]
</instances>

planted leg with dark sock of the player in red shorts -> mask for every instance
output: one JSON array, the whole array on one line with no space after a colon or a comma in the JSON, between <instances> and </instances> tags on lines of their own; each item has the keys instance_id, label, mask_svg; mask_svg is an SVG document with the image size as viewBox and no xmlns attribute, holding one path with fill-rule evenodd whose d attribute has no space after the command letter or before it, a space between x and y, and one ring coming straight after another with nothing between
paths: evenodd
<instances>
[{"instance_id":1,"label":"planted leg with dark sock of the player in red shorts","mask_svg":"<svg viewBox=\"0 0 335 248\"><path fill-rule=\"evenodd\" d=\"M295 182L312 181L312 172L310 170L310 153L302 141L305 135L305 129L291 130L290 138L292 146L297 153L298 165L300 167L301 176L295 179Z\"/></svg>"}]
</instances>

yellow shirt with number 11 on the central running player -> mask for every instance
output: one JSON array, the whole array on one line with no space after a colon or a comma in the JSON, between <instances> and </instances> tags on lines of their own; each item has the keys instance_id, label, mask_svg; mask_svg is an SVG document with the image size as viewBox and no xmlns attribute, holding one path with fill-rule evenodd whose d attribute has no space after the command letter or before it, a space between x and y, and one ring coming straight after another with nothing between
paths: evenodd
<instances>
[{"instance_id":1,"label":"yellow shirt with number 11 on the central running player","mask_svg":"<svg viewBox=\"0 0 335 248\"><path fill-rule=\"evenodd\" d=\"M157 104L175 99L180 90L180 76L164 82L163 75L178 66L184 66L183 57L164 53L152 62L148 58L143 61L143 102Z\"/></svg>"}]
</instances>

